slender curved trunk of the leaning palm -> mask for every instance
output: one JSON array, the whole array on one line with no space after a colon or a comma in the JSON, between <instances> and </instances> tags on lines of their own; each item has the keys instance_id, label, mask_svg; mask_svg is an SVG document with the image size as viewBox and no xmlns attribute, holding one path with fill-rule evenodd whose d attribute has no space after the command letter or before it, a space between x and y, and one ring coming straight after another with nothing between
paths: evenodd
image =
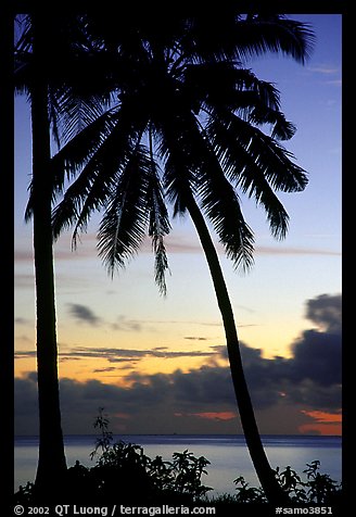
<instances>
[{"instance_id":1,"label":"slender curved trunk of the leaning palm","mask_svg":"<svg viewBox=\"0 0 356 517\"><path fill-rule=\"evenodd\" d=\"M234 394L253 465L268 501L274 504L288 503L290 500L287 493L279 486L274 475L274 470L268 463L268 458L260 440L247 383L243 373L233 312L215 245L206 227L204 217L202 216L195 201L190 196L189 200L187 201L187 207L196 228L205 253L217 297L218 306L223 316Z\"/></svg>"}]
</instances>

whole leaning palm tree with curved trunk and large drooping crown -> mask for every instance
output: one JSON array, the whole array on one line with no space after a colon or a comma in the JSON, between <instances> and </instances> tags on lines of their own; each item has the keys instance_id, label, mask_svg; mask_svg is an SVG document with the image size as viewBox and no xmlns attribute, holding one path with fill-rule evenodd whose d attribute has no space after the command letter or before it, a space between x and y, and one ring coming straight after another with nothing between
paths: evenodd
<instances>
[{"instance_id":1,"label":"whole leaning palm tree with curved trunk and large drooping crown","mask_svg":"<svg viewBox=\"0 0 356 517\"><path fill-rule=\"evenodd\" d=\"M54 238L74 226L75 244L91 214L102 211L99 253L113 273L148 234L164 293L167 202L174 215L190 215L223 317L246 444L268 500L281 502L287 496L263 447L207 222L233 264L245 268L253 264L254 236L239 190L264 207L276 238L285 236L289 217L276 191L296 192L307 184L306 173L279 143L295 128L280 111L278 90L242 62L274 51L303 63L312 33L282 15L242 16L233 9L218 15L167 15L163 26L148 13L118 22L118 27L107 26L106 18L102 26L100 18L92 23L92 34L104 35L101 48L114 51L120 62L119 74L113 71L112 77L117 101L52 159L55 196L63 194L53 212ZM270 135L263 131L267 126Z\"/></svg>"}]
</instances>

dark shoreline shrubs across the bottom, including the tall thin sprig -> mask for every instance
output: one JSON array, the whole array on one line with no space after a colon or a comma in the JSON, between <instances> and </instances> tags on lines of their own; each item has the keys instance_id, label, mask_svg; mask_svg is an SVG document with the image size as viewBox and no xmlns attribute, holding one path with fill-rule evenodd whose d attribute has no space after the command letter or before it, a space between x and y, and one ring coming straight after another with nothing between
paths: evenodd
<instances>
[{"instance_id":1,"label":"dark shoreline shrubs across the bottom, including the tall thin sprig","mask_svg":"<svg viewBox=\"0 0 356 517\"><path fill-rule=\"evenodd\" d=\"M113 442L109 420L102 413L97 417L94 427L100 430L90 453L96 464L86 467L77 459L67 469L61 488L61 500L65 500L66 504L135 504L155 507L156 513L170 513L173 507L180 508L182 513L183 508L200 506L214 507L216 512L221 512L220 515L233 508L238 508L239 516L252 515L253 510L257 512L253 515L269 515L269 510L276 515L276 507L267 502L264 490L250 486L243 476L233 480L234 494L211 496L214 488L204 484L209 461L204 456L194 456L186 449L181 453L173 453L170 461L164 461L162 456L151 458L137 443L124 440ZM342 483L323 474L318 459L306 464L303 472L287 466L283 469L277 467L274 474L290 499L291 509L308 508L314 514L339 515ZM21 486L14 494L16 505L29 507L31 504L43 504L43 500L46 493L38 493L31 482ZM282 509L287 514L289 507Z\"/></svg>"}]
</instances>

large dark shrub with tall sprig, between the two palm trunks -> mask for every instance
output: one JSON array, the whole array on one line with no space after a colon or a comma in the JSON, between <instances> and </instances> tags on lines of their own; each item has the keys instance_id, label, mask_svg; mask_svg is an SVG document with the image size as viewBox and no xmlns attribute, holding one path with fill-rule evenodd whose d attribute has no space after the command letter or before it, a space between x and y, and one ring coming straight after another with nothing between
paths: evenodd
<instances>
[{"instance_id":1,"label":"large dark shrub with tall sprig, between the two palm trunks","mask_svg":"<svg viewBox=\"0 0 356 517\"><path fill-rule=\"evenodd\" d=\"M132 497L150 500L164 497L181 501L194 501L205 495L209 487L202 484L201 478L209 462L203 457L195 457L188 450L182 453L174 453L171 462L163 461L162 456L151 459L143 453L141 445L118 441L112 444L113 433L109 430L109 419L99 409L94 421L94 428L100 430L100 437L96 441L96 447L90 453L91 458L101 449L101 455L97 465L87 472L81 467L79 481L86 480L91 490L102 497L119 495L125 500ZM71 476L79 474L77 468L68 469ZM89 472L89 477L88 477ZM89 480L90 478L90 480Z\"/></svg>"}]
</instances>

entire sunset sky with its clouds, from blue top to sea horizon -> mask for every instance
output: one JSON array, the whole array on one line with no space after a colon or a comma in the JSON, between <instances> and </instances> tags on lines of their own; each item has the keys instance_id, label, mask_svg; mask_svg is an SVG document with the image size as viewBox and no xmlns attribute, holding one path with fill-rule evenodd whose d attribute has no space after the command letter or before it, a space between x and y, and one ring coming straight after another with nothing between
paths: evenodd
<instances>
[{"instance_id":1,"label":"entire sunset sky with its clouds, from blue top to sea horizon","mask_svg":"<svg viewBox=\"0 0 356 517\"><path fill-rule=\"evenodd\" d=\"M297 128L284 142L309 182L280 194L290 215L282 241L241 197L255 262L237 272L217 243L243 364L262 433L341 433L342 16L291 14L316 45L305 65L266 55L246 63L275 83ZM15 99L15 433L38 431L30 117ZM99 216L75 251L54 247L59 371L65 434L91 433L99 408L115 433L241 433L220 313L189 218L166 239L167 297L154 283L150 242L112 278L96 249Z\"/></svg>"}]
</instances>

